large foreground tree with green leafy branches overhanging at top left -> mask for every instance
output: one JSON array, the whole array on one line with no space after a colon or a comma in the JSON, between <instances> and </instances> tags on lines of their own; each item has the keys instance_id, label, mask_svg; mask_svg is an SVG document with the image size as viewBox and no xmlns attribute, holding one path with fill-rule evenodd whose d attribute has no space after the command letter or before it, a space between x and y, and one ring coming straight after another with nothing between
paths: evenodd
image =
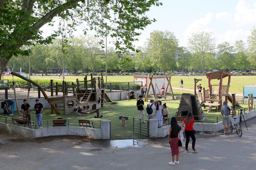
<instances>
[{"instance_id":1,"label":"large foreground tree with green leafy branches overhanging at top left","mask_svg":"<svg viewBox=\"0 0 256 170\"><path fill-rule=\"evenodd\" d=\"M65 23L68 33L84 24L85 32L94 29L97 35L116 38L117 49L134 50L132 41L137 40L139 30L155 22L145 15L152 5L162 3L158 0L0 0L0 78L13 55L29 54L29 49L20 47L49 44L58 36L60 31L43 38L40 30L45 24L52 25L54 17Z\"/></svg>"}]
</instances>

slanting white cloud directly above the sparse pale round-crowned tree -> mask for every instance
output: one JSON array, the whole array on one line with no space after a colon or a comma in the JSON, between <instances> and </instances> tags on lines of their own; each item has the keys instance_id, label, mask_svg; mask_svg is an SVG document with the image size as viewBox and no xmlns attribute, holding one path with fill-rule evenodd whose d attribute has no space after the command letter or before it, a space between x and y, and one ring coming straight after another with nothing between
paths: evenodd
<instances>
[{"instance_id":1,"label":"slanting white cloud directly above the sparse pale round-crowned tree","mask_svg":"<svg viewBox=\"0 0 256 170\"><path fill-rule=\"evenodd\" d=\"M207 13L204 18L199 18L198 20L194 20L184 31L184 36L187 38L192 33L196 33L197 31L212 31L208 24L212 21L213 13Z\"/></svg>"}]
</instances>

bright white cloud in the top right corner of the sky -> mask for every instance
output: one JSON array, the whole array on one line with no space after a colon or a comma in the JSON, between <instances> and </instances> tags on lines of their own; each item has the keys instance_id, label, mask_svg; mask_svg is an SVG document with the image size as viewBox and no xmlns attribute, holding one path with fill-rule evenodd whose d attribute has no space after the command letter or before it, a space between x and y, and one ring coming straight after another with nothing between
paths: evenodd
<instances>
[{"instance_id":1,"label":"bright white cloud in the top right corner of the sky","mask_svg":"<svg viewBox=\"0 0 256 170\"><path fill-rule=\"evenodd\" d=\"M253 8L247 4L244 0L240 0L236 5L236 13L234 14L234 20L236 26L245 26L248 24L256 23L256 3L253 4Z\"/></svg>"}]
</instances>

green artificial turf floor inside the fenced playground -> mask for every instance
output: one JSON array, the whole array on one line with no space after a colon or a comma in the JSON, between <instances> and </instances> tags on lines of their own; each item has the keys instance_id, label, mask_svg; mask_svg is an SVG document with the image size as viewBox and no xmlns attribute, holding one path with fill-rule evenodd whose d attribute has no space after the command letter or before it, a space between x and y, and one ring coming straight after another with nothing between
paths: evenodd
<instances>
[{"instance_id":1,"label":"green artificial turf floor inside the fenced playground","mask_svg":"<svg viewBox=\"0 0 256 170\"><path fill-rule=\"evenodd\" d=\"M149 103L149 102L148 102ZM148 103L145 103L148 104ZM180 100L163 100L163 103L166 103L170 115L174 116L176 114L177 108L179 107ZM133 119L132 117L138 117L138 111L136 107L136 101L135 100L119 100L117 104L112 104L113 107L115 107L115 110L112 110L108 106L104 105L100 109L100 115L103 115L102 118L94 118L96 114L91 114L91 115L82 115L76 116L76 115L56 115L56 114L50 114L51 109L46 109L43 112L43 120L51 120L51 119L57 119L58 117L62 117L64 119L89 119L89 120L95 120L95 121L100 121L100 120L111 120L111 138L112 139L132 139L132 138L145 138L146 136L133 133L132 126L133 126ZM246 105L243 105L242 107L246 107ZM145 109L145 106L144 106ZM214 110L214 109L213 109ZM213 111L212 110L212 111ZM206 113L207 108L204 109L204 114L206 116L217 116L220 115L220 110L219 112L211 112L211 113ZM146 111L145 111L146 112ZM14 114L17 117L19 114L15 112ZM129 116L129 120L126 120L126 126L122 127L121 122L119 120L119 116L124 115L124 116ZM147 119L147 114L145 113L145 118ZM221 117L220 117L221 118ZM3 118L0 118L4 120ZM31 114L31 120L36 121L36 116L35 114ZM207 121L216 121L216 118L211 117L211 118L206 118ZM78 124L78 121L75 120L70 120L69 123L74 123ZM52 121L49 121L49 124L52 124ZM47 122L43 122L43 125L47 125ZM99 126L99 123L95 123L96 126Z\"/></svg>"}]
</instances>

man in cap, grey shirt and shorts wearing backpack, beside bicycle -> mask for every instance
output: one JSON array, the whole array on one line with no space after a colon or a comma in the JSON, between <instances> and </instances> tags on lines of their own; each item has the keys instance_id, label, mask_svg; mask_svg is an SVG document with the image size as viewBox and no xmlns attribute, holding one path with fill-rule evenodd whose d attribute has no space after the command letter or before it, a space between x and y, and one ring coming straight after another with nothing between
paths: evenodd
<instances>
[{"instance_id":1,"label":"man in cap, grey shirt and shorts wearing backpack, beside bicycle","mask_svg":"<svg viewBox=\"0 0 256 170\"><path fill-rule=\"evenodd\" d=\"M232 107L228 105L227 101L223 101L223 106L221 107L221 114L223 116L222 123L224 127L224 132L222 133L223 135L231 135L230 133L230 111L232 110L232 113L234 113L234 110ZM228 133L226 133L226 126L228 126Z\"/></svg>"}]
</instances>

